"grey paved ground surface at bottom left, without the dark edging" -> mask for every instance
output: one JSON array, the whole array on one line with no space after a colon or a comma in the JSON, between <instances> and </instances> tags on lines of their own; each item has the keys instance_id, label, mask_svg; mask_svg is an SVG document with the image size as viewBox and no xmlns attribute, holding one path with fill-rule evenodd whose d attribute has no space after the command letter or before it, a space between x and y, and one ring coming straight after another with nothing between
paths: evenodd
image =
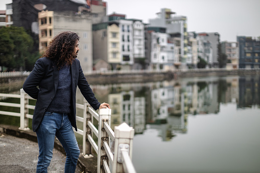
<instances>
[{"instance_id":1,"label":"grey paved ground surface at bottom left, without the dark edging","mask_svg":"<svg viewBox=\"0 0 260 173\"><path fill-rule=\"evenodd\" d=\"M53 150L48 172L64 172L66 156ZM0 173L36 172L38 144L36 142L0 133ZM82 172L79 167L76 173Z\"/></svg>"}]
</instances>

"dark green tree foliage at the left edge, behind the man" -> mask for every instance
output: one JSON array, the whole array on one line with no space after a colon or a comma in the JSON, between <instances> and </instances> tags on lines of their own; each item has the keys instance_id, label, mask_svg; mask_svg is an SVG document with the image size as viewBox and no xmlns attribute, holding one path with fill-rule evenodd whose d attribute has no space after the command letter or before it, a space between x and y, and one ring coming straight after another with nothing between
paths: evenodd
<instances>
[{"instance_id":1,"label":"dark green tree foliage at the left edge, behind the man","mask_svg":"<svg viewBox=\"0 0 260 173\"><path fill-rule=\"evenodd\" d=\"M32 47L33 39L22 27L2 27L0 29L0 66L7 67L8 71L32 70L31 66L38 56L37 53L33 53Z\"/></svg>"}]
</instances>

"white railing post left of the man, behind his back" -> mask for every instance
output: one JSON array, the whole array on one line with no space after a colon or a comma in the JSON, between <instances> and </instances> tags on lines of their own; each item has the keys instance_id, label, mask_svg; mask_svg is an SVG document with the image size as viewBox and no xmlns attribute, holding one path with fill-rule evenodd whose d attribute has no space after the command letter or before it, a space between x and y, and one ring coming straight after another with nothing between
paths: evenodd
<instances>
[{"instance_id":1,"label":"white railing post left of the man, behind his back","mask_svg":"<svg viewBox=\"0 0 260 173\"><path fill-rule=\"evenodd\" d=\"M28 128L28 118L26 114L28 113L28 109L26 109L26 105L28 105L28 100L25 98L26 92L23 89L20 89L20 127L19 130L29 130Z\"/></svg>"}]
</instances>

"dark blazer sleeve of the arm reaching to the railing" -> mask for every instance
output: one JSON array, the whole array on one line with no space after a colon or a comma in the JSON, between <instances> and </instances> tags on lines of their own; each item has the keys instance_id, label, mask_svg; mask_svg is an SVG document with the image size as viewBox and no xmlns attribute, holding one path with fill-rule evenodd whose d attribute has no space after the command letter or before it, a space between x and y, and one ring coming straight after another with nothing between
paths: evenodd
<instances>
[{"instance_id":1,"label":"dark blazer sleeve of the arm reaching to the railing","mask_svg":"<svg viewBox=\"0 0 260 173\"><path fill-rule=\"evenodd\" d=\"M100 107L100 103L95 97L92 89L90 88L84 74L81 68L81 65L79 64L79 80L78 80L78 87L80 89L80 92L82 95L86 98L87 102L90 104L90 106L94 110L98 110Z\"/></svg>"}]
</instances>

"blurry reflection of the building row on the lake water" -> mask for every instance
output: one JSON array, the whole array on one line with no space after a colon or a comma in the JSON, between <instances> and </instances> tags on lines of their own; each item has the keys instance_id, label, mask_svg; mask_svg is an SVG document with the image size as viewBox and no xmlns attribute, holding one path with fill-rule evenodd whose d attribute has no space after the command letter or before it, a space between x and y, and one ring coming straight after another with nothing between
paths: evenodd
<instances>
[{"instance_id":1,"label":"blurry reflection of the building row on the lake water","mask_svg":"<svg viewBox=\"0 0 260 173\"><path fill-rule=\"evenodd\" d=\"M237 104L239 109L259 105L259 82L258 77L212 77L91 88L99 101L110 104L112 129L126 122L135 134L156 129L168 141L188 132L188 116L218 114L220 104L226 103Z\"/></svg>"}]
</instances>

